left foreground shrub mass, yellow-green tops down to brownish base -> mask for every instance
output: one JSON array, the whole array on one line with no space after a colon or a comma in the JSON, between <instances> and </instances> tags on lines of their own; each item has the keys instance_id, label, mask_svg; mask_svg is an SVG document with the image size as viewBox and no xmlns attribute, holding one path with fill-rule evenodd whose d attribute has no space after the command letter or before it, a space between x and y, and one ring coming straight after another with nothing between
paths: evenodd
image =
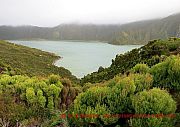
<instances>
[{"instance_id":1,"label":"left foreground shrub mass, yellow-green tops down to brownish base","mask_svg":"<svg viewBox=\"0 0 180 127\"><path fill-rule=\"evenodd\" d=\"M68 94L64 96L63 89L66 89L67 86ZM11 101L4 103L6 98L3 98L3 96L7 92ZM16 119L24 125L34 122L40 125L44 120L52 119L54 112L62 109L63 104L67 109L78 93L78 88L72 87L70 80L62 79L57 75L50 75L49 78L30 78L21 75L9 76L2 74L0 75L0 98L3 101L0 102L0 118L9 122L10 125L17 124ZM70 102L68 97L71 97ZM68 104L66 101L68 101ZM16 110L12 111L13 106L24 112L18 111L22 113L20 118L20 114ZM6 112L7 117L4 116ZM26 122L26 120L29 122Z\"/></svg>"}]
</instances>

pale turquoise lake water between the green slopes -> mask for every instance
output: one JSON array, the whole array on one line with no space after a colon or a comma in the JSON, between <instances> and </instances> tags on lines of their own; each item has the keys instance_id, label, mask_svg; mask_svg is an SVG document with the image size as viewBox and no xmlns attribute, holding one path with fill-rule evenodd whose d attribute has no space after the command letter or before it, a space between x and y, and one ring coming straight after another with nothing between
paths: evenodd
<instances>
[{"instance_id":1,"label":"pale turquoise lake water between the green slopes","mask_svg":"<svg viewBox=\"0 0 180 127\"><path fill-rule=\"evenodd\" d=\"M140 45L110 45L101 42L70 41L11 41L16 44L55 53L61 56L55 62L72 72L78 78L97 71L100 66L108 67L116 54L122 54Z\"/></svg>"}]
</instances>

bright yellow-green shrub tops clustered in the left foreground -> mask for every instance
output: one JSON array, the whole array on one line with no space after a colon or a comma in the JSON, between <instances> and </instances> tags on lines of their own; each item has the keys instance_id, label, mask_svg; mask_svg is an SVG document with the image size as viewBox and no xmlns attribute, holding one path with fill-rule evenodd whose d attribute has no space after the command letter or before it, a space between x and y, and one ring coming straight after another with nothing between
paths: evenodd
<instances>
[{"instance_id":1,"label":"bright yellow-green shrub tops clustered in the left foreground","mask_svg":"<svg viewBox=\"0 0 180 127\"><path fill-rule=\"evenodd\" d=\"M57 76L51 75L49 79L39 80L36 77L1 75L0 88L2 92L8 88L29 106L47 107L47 102L53 108L56 106L54 101L58 100L63 85L59 80L54 82L52 77L57 78Z\"/></svg>"}]
</instances>

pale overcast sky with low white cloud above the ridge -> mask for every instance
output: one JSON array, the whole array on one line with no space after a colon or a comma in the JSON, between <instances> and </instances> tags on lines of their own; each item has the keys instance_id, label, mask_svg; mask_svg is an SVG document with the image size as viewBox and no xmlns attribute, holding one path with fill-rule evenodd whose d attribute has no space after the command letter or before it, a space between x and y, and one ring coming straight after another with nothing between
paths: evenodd
<instances>
[{"instance_id":1,"label":"pale overcast sky with low white cloud above the ridge","mask_svg":"<svg viewBox=\"0 0 180 127\"><path fill-rule=\"evenodd\" d=\"M180 12L180 0L0 0L0 25L111 24Z\"/></svg>"}]
</instances>

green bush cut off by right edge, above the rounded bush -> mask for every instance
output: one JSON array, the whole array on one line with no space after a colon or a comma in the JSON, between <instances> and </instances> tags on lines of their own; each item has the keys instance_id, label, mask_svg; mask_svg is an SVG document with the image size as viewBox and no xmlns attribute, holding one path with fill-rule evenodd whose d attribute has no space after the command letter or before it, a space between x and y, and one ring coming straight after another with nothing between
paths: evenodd
<instances>
[{"instance_id":1,"label":"green bush cut off by right edge, above the rounded bush","mask_svg":"<svg viewBox=\"0 0 180 127\"><path fill-rule=\"evenodd\" d=\"M180 57L171 56L164 62L154 65L150 69L153 75L153 85L170 90L180 90Z\"/></svg>"}]
</instances>

